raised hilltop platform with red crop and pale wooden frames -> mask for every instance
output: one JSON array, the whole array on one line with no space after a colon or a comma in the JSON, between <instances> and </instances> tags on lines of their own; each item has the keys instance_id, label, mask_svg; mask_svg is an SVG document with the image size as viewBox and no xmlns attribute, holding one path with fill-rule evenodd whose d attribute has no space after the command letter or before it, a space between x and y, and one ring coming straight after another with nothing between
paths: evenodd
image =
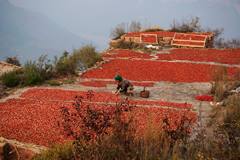
<instances>
[{"instance_id":1,"label":"raised hilltop platform with red crop and pale wooden frames","mask_svg":"<svg viewBox=\"0 0 240 160\"><path fill-rule=\"evenodd\" d=\"M170 47L210 48L213 33L179 33L170 31L130 32L121 37L125 42Z\"/></svg>"}]
</instances>

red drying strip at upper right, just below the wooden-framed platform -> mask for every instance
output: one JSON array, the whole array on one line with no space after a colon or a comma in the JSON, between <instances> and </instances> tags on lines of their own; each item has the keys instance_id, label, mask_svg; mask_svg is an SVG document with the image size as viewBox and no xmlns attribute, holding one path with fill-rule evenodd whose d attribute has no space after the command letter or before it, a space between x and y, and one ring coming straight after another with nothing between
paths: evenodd
<instances>
[{"instance_id":1,"label":"red drying strip at upper right, just below the wooden-framed platform","mask_svg":"<svg viewBox=\"0 0 240 160\"><path fill-rule=\"evenodd\" d=\"M240 49L174 49L171 54L159 54L158 59L240 64Z\"/></svg>"}]
</instances>

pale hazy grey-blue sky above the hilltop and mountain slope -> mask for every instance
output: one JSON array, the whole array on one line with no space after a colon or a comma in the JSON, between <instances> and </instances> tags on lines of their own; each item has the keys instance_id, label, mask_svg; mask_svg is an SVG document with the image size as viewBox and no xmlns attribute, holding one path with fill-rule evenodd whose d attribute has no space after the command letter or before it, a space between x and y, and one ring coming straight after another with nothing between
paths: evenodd
<instances>
[{"instance_id":1,"label":"pale hazy grey-blue sky above the hilltop and mountain slope","mask_svg":"<svg viewBox=\"0 0 240 160\"><path fill-rule=\"evenodd\" d=\"M122 22L169 28L173 19L198 16L205 27L224 28L227 38L240 38L240 0L9 0L45 14L69 31L107 46L110 32Z\"/></svg>"}]
</instances>

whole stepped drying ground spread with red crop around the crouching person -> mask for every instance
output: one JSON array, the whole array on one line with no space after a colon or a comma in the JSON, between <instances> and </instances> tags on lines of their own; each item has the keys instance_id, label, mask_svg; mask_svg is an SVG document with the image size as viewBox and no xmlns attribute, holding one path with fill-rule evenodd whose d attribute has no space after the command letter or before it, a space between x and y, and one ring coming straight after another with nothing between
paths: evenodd
<instances>
[{"instance_id":1,"label":"whole stepped drying ground spread with red crop around the crouching person","mask_svg":"<svg viewBox=\"0 0 240 160\"><path fill-rule=\"evenodd\" d=\"M134 84L135 94L128 101L136 106L137 133L141 135L149 121L157 125L164 117L171 119L174 129L183 115L207 119L209 102L195 97L209 94L218 69L226 68L230 78L240 69L239 50L174 49L149 54L110 50L103 58L103 64L83 73L75 84L25 88L0 100L0 136L44 146L71 139L59 125L62 106L73 108L76 96L87 98L92 90L94 97L86 104L112 110L126 98L112 93L116 74ZM149 99L140 98L143 87L150 91Z\"/></svg>"}]
</instances>

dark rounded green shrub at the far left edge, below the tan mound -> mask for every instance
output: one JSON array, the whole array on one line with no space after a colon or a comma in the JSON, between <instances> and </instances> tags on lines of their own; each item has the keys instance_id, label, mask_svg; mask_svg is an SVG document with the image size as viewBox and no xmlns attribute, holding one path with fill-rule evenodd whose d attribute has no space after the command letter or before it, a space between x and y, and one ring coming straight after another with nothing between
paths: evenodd
<instances>
[{"instance_id":1,"label":"dark rounded green shrub at the far left edge, below the tan mound","mask_svg":"<svg viewBox=\"0 0 240 160\"><path fill-rule=\"evenodd\" d=\"M11 71L5 73L1 77L2 83L7 87L16 87L21 83L21 77L19 71Z\"/></svg>"}]
</instances>

